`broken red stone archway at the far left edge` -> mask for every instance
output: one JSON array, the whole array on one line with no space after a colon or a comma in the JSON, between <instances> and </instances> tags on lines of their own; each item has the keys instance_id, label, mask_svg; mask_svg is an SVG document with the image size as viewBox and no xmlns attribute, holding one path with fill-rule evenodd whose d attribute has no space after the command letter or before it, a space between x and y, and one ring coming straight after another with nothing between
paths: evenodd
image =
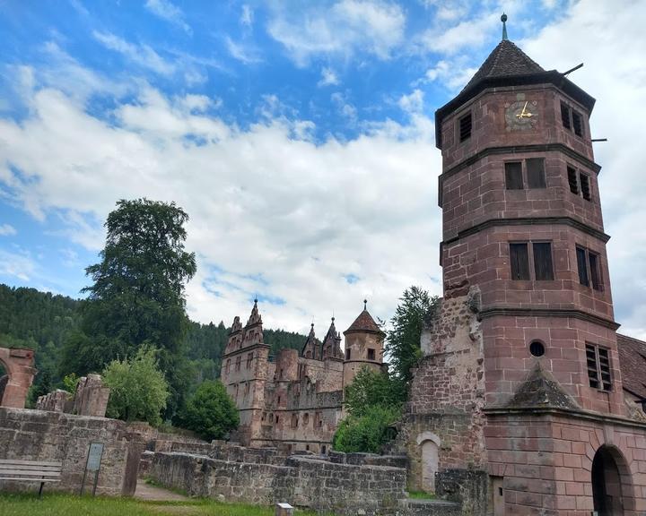
<instances>
[{"instance_id":1,"label":"broken red stone archway at the far left edge","mask_svg":"<svg viewBox=\"0 0 646 516\"><path fill-rule=\"evenodd\" d=\"M6 371L0 406L24 409L27 391L36 374L32 349L0 348L0 363Z\"/></svg>"}]
</instances>

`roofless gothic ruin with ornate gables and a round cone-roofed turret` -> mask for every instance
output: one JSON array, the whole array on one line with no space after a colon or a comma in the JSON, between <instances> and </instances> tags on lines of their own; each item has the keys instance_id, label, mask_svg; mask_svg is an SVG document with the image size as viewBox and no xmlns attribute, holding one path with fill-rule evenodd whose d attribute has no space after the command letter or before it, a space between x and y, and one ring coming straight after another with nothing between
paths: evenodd
<instances>
[{"instance_id":1,"label":"roofless gothic ruin with ornate gables and a round cone-roofed turret","mask_svg":"<svg viewBox=\"0 0 646 516\"><path fill-rule=\"evenodd\" d=\"M221 371L240 409L240 427L232 439L251 447L326 453L342 417L345 386L362 366L380 370L383 365L384 333L365 302L344 335L345 353L333 317L322 342L312 324L300 352L282 349L270 357L258 300L244 327L236 317Z\"/></svg>"}]
</instances>

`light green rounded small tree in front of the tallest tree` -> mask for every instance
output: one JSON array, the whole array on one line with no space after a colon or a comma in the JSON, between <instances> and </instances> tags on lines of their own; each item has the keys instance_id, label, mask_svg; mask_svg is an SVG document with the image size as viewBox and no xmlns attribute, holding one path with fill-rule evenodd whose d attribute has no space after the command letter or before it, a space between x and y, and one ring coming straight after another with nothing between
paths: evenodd
<instances>
[{"instance_id":1,"label":"light green rounded small tree in front of the tallest tree","mask_svg":"<svg viewBox=\"0 0 646 516\"><path fill-rule=\"evenodd\" d=\"M169 388L155 354L154 348L142 346L131 359L113 360L105 368L103 383L110 388L108 417L162 424Z\"/></svg>"}]
</instances>

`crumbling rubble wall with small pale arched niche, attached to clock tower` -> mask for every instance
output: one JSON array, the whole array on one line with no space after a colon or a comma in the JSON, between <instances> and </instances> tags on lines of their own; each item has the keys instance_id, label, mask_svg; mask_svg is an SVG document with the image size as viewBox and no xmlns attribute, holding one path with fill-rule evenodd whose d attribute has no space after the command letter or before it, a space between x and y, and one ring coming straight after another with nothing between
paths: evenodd
<instances>
[{"instance_id":1,"label":"crumbling rubble wall with small pale arched niche, attached to clock tower","mask_svg":"<svg viewBox=\"0 0 646 516\"><path fill-rule=\"evenodd\" d=\"M437 446L435 470L482 468L485 377L483 342L477 321L479 291L442 299L437 316L423 331L420 361L395 449L409 459L408 485L434 491L423 456L424 443ZM431 475L432 476L432 475Z\"/></svg>"}]
</instances>

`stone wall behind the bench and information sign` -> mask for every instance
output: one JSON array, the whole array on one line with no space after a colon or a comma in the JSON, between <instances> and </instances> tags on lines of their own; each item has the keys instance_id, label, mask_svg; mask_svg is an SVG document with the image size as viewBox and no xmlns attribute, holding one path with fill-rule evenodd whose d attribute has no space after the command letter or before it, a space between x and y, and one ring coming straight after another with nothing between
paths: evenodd
<instances>
[{"instance_id":1,"label":"stone wall behind the bench and information sign","mask_svg":"<svg viewBox=\"0 0 646 516\"><path fill-rule=\"evenodd\" d=\"M43 410L0 408L0 459L62 461L60 483L46 489L78 493L90 443L103 443L97 493L133 495L144 441L123 421ZM92 479L86 486L92 489ZM38 483L0 481L0 491Z\"/></svg>"}]
</instances>

